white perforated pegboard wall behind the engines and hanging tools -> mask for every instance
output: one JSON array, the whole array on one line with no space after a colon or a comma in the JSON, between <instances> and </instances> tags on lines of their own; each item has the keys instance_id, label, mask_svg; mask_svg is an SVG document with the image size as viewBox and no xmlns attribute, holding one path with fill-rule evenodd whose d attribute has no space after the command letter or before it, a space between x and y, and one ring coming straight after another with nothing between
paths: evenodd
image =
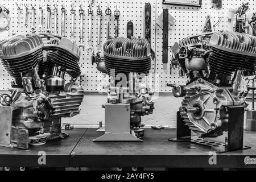
<instances>
[{"instance_id":1,"label":"white perforated pegboard wall behind the engines and hanging tools","mask_svg":"<svg viewBox=\"0 0 256 182\"><path fill-rule=\"evenodd\" d=\"M86 47L88 46L88 32L89 32L89 17L88 9L89 4L92 1L79 1L79 0L4 0L1 1L7 9L10 10L11 16L11 26L9 35L12 34L26 34L31 32L32 26L32 11L28 14L28 27L24 26L25 23L25 6L27 5L31 9L31 4L35 6L35 27L38 30L39 26L39 5L43 7L43 30L47 28L47 5L51 6L53 10L53 5L57 5L57 33L61 34L61 5L65 6L66 15L65 15L65 36L71 38L71 5L76 10L75 12L75 28L74 28L74 38L79 44L79 35L80 35L80 16L79 9L82 5L84 9L84 44L85 49L81 51L80 65L82 69L82 86L85 92L102 92L102 86L108 82L108 76L102 75L97 71L96 65L92 65L89 59L88 52ZM150 73L152 74L151 78L148 80L148 83L155 89L155 92L171 92L171 88L167 87L167 83L176 83L176 84L185 84L187 77L179 77L177 69L172 69L170 73L170 58L171 58L171 47L168 51L169 63L168 68L163 69L162 64L162 29L155 24L156 18L163 12L163 9L168 8L169 13L174 16L177 20L174 25L171 26L168 34L168 45L172 46L175 42L183 39L189 35L200 34L203 30L205 20L207 15L212 17L212 22L216 23L218 18L221 17L221 22L216 27L216 30L226 30L228 22L228 12L229 9L237 9L242 2L240 0L222 0L222 8L212 8L211 0L204 0L200 7L188 7L188 6L175 6L175 5L163 5L162 0L123 0L123 1L111 1L111 0L101 0L93 1L92 9L92 46L96 50L97 48L97 14L96 11L98 6L102 9L101 16L101 46L106 40L106 27L107 20L105 15L105 10L109 6L112 10L112 16L110 18L110 36L114 36L114 15L113 12L118 8L120 11L119 17L119 36L126 37L126 24L131 20L134 24L134 36L144 36L144 4L146 2L151 3L151 47L156 53L156 59L152 61L152 69ZM21 23L18 24L18 10L15 3L18 3L22 8L21 14ZM249 14L252 14L256 9L256 2L250 0L250 9ZM250 17L250 16L249 16ZM5 19L0 17L0 22L4 22ZM51 30L53 31L54 27L54 15L53 11L51 14ZM1 24L1 23L0 23ZM54 32L55 33L55 32ZM0 32L1 36L2 32ZM68 79L68 78L67 78ZM0 90L7 90L10 88L11 77L7 74L3 67L0 67Z\"/></svg>"}]
</instances>

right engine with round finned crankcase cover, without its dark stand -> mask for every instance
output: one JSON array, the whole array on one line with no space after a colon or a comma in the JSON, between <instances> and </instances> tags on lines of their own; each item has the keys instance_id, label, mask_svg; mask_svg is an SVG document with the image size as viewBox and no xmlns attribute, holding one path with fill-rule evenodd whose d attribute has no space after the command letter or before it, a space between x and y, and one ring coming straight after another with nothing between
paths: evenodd
<instances>
[{"instance_id":1,"label":"right engine with round finned crankcase cover, without its dark stand","mask_svg":"<svg viewBox=\"0 0 256 182\"><path fill-rule=\"evenodd\" d=\"M255 75L256 38L237 32L215 32L175 43L174 57L187 73L187 85L174 85L185 125L198 137L218 137L228 130L227 106L247 107L240 92L242 76Z\"/></svg>"}]
</instances>

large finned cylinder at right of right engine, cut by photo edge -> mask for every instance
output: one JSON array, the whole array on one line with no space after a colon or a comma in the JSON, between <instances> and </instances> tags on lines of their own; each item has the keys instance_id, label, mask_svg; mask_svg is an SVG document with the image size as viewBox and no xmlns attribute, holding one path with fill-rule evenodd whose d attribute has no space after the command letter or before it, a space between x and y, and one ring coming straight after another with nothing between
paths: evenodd
<instances>
[{"instance_id":1,"label":"large finned cylinder at right of right engine, cut by photo edge","mask_svg":"<svg viewBox=\"0 0 256 182\"><path fill-rule=\"evenodd\" d=\"M210 41L209 68L221 75L232 75L237 69L254 72L256 37L238 32L215 32Z\"/></svg>"}]
</instances>

